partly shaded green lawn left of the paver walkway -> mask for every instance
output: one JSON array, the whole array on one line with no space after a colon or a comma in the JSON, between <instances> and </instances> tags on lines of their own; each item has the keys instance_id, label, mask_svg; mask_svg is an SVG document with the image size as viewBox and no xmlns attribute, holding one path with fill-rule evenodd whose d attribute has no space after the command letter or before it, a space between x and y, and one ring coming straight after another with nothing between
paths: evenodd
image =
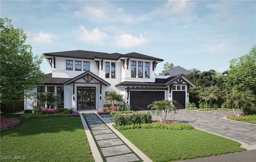
<instances>
[{"instance_id":1,"label":"partly shaded green lawn left of the paver walkway","mask_svg":"<svg viewBox=\"0 0 256 162\"><path fill-rule=\"evenodd\" d=\"M28 162L94 161L80 117L19 119L19 126L1 132L1 156L26 156Z\"/></svg>"}]
</instances>

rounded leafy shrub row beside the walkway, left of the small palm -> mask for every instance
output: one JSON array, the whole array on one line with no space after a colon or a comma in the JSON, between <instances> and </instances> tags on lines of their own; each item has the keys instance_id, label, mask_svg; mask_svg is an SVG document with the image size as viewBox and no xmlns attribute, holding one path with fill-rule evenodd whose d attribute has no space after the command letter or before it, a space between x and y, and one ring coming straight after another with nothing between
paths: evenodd
<instances>
[{"instance_id":1,"label":"rounded leafy shrub row beside the walkway, left of the small palm","mask_svg":"<svg viewBox=\"0 0 256 162\"><path fill-rule=\"evenodd\" d=\"M150 113L132 113L129 115L116 115L113 119L116 126L151 123L152 115Z\"/></svg>"}]
</instances>

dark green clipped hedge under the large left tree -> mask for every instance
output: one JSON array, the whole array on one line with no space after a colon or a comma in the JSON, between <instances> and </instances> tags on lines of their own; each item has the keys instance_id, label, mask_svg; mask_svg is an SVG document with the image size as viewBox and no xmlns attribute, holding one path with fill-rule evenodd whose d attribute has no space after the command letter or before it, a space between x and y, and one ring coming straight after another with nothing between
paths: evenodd
<instances>
[{"instance_id":1,"label":"dark green clipped hedge under the large left tree","mask_svg":"<svg viewBox=\"0 0 256 162\"><path fill-rule=\"evenodd\" d=\"M11 100L8 103L1 103L1 111L4 113L13 113L24 110L24 100Z\"/></svg>"}]
</instances>

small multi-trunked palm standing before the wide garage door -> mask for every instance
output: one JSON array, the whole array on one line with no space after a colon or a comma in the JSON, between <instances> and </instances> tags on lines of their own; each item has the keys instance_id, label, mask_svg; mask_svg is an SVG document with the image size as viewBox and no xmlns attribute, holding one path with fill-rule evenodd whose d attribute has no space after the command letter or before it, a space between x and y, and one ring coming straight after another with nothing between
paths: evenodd
<instances>
[{"instance_id":1,"label":"small multi-trunked palm standing before the wide garage door","mask_svg":"<svg viewBox=\"0 0 256 162\"><path fill-rule=\"evenodd\" d=\"M174 114L177 113L175 101L173 100L154 101L148 105L149 108L152 110L152 114L156 114L159 117L160 122L165 121L167 113L172 113L172 111L174 111ZM164 120L162 119L162 111L165 112Z\"/></svg>"}]
</instances>

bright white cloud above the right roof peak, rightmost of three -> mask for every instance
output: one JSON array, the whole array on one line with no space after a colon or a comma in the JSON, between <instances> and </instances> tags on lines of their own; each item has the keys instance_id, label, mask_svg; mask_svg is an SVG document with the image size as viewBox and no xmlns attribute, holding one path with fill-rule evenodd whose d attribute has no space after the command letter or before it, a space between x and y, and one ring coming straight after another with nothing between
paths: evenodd
<instances>
[{"instance_id":1,"label":"bright white cloud above the right roof peak, rightmost of three","mask_svg":"<svg viewBox=\"0 0 256 162\"><path fill-rule=\"evenodd\" d=\"M115 46L120 48L131 48L147 43L149 40L143 37L143 34L140 34L139 38L134 37L130 34L122 34L116 36Z\"/></svg>"}]
</instances>

